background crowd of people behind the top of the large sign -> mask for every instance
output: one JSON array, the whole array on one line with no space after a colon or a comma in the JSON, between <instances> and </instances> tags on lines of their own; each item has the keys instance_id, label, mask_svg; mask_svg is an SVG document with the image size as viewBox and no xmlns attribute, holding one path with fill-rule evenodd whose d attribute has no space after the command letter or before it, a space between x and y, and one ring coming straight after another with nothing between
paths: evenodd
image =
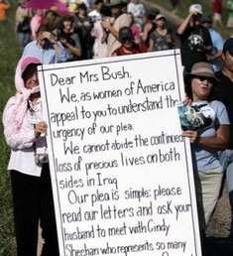
<instances>
[{"instance_id":1,"label":"background crowd of people behind the top of the large sign","mask_svg":"<svg viewBox=\"0 0 233 256\"><path fill-rule=\"evenodd\" d=\"M140 0L131 0L129 3L126 0L115 0L112 3L109 0L66 2L67 12L64 16L56 7L49 10L26 8L27 0L19 0L15 33L23 56L32 55L32 51L36 51L35 55L45 64L44 58L48 51L50 54L55 52L56 57L50 63L59 63L180 47L186 71L190 71L196 62L208 62L215 71L222 68L224 41L214 29L222 23L222 3L219 0L213 0L212 14L203 13L200 4L192 4L188 15L176 30L168 27L164 14L160 11L146 11ZM227 2L229 30L230 2ZM173 2L175 6L177 3ZM128 30L124 30L124 39L120 33L122 27L128 27ZM44 40L46 44L42 43ZM123 45L125 51L120 51ZM36 49L37 46L39 49Z\"/></svg>"}]
</instances>

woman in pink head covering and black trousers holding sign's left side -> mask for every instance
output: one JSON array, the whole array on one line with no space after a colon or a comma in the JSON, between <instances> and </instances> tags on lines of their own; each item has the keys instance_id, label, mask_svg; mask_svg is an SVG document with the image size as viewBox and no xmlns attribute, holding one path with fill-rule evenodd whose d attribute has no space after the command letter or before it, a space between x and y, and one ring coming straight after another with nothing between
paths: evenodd
<instances>
[{"instance_id":1,"label":"woman in pink head covering and black trousers holding sign's left side","mask_svg":"<svg viewBox=\"0 0 233 256\"><path fill-rule=\"evenodd\" d=\"M19 63L17 93L3 112L4 135L11 147L8 165L14 204L18 256L36 256L39 220L45 240L42 255L58 255L54 200L37 66L26 57Z\"/></svg>"}]
</instances>

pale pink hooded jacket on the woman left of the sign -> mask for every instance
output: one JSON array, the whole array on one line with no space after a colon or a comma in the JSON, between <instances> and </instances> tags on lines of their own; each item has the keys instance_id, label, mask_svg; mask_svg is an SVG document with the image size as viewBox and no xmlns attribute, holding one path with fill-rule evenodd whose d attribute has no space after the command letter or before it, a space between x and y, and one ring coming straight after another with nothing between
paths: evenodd
<instances>
[{"instance_id":1,"label":"pale pink hooded jacket on the woman left of the sign","mask_svg":"<svg viewBox=\"0 0 233 256\"><path fill-rule=\"evenodd\" d=\"M15 74L16 95L11 97L3 111L4 135L11 147L8 170L16 170L32 176L41 176L41 167L35 163L35 153L46 152L46 137L35 138L34 125L29 123L29 115L33 113L38 120L43 120L41 99L32 106L29 101L31 93L39 91L39 86L27 89L21 77L22 62L19 61ZM31 106L29 109L29 105ZM36 150L35 150L36 149Z\"/></svg>"}]
</instances>

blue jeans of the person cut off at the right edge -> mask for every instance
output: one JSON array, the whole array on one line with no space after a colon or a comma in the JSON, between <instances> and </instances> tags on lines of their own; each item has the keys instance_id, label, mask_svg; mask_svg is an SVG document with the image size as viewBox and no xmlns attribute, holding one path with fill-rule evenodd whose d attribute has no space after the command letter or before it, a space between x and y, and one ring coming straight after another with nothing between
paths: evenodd
<instances>
[{"instance_id":1,"label":"blue jeans of the person cut off at the right edge","mask_svg":"<svg viewBox=\"0 0 233 256\"><path fill-rule=\"evenodd\" d=\"M231 206L231 227L233 233L233 150L226 149L220 153L220 163L226 173L226 182Z\"/></svg>"}]
</instances>

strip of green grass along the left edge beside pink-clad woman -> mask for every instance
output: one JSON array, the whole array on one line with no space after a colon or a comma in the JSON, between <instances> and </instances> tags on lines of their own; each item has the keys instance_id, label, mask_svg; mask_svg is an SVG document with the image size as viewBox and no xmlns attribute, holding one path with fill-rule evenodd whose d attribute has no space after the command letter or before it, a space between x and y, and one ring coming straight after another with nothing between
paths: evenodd
<instances>
[{"instance_id":1,"label":"strip of green grass along the left edge beside pink-clad woman","mask_svg":"<svg viewBox=\"0 0 233 256\"><path fill-rule=\"evenodd\" d=\"M14 72L20 57L16 36L14 34L14 17L17 1L11 1L11 8L7 13L7 20L0 22L0 118L8 98L15 93ZM2 122L0 122L0 255L13 256L15 252L13 209L9 173L7 164L10 149L3 136Z\"/></svg>"}]
</instances>

